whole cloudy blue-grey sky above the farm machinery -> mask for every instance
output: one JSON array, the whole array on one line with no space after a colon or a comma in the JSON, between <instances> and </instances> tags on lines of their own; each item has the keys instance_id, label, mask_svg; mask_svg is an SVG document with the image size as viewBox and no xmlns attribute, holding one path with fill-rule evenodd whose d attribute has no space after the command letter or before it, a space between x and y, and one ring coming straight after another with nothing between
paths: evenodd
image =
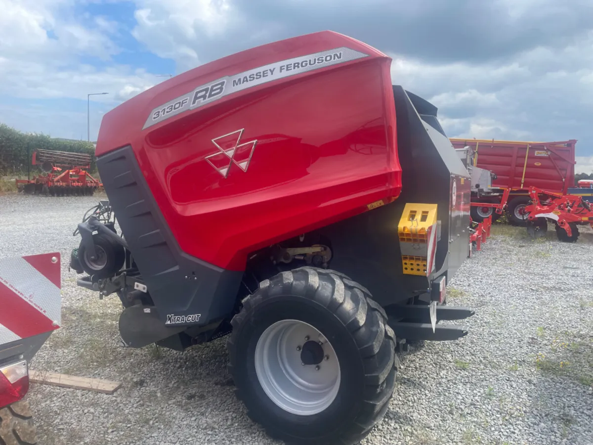
<instances>
[{"instance_id":1,"label":"whole cloudy blue-grey sky above the farm machinery","mask_svg":"<svg viewBox=\"0 0 593 445\"><path fill-rule=\"evenodd\" d=\"M593 171L591 0L0 0L0 122L91 139L101 116L221 56L320 30L393 58L451 137L578 139Z\"/></svg>"}]
</instances>

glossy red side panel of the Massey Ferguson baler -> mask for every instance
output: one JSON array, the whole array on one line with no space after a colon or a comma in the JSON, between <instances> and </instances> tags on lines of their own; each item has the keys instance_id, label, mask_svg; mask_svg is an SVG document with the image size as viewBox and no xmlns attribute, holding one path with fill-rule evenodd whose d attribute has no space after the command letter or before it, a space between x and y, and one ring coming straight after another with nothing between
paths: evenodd
<instances>
[{"instance_id":1,"label":"glossy red side panel of the Massey Ferguson baler","mask_svg":"<svg viewBox=\"0 0 593 445\"><path fill-rule=\"evenodd\" d=\"M365 56L226 94L145 126L159 107L200 85L340 48ZM107 113L96 155L131 145L181 249L240 271L260 247L400 194L390 62L329 31L250 49L178 75ZM236 162L217 171L228 161L221 150Z\"/></svg>"}]
</instances>

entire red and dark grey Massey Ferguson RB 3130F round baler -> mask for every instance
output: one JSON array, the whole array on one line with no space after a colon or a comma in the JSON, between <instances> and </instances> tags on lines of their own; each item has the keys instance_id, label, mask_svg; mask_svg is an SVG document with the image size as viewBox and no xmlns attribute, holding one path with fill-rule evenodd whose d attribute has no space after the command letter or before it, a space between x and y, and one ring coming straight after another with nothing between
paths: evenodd
<instances>
[{"instance_id":1,"label":"entire red and dark grey Massey Ferguson RB 3130F round baler","mask_svg":"<svg viewBox=\"0 0 593 445\"><path fill-rule=\"evenodd\" d=\"M315 33L187 71L101 123L109 201L76 230L78 284L119 295L129 347L230 333L237 395L289 443L361 440L396 345L461 338L437 323L473 314L443 304L471 249L470 177L390 66Z\"/></svg>"}]
</instances>

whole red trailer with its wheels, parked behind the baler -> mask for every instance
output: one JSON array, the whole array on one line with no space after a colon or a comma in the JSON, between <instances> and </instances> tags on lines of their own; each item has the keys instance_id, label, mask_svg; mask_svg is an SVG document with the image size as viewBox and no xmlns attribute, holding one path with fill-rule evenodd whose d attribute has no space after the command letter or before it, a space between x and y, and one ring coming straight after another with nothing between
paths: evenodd
<instances>
[{"instance_id":1,"label":"whole red trailer with its wheels, parked behind the baler","mask_svg":"<svg viewBox=\"0 0 593 445\"><path fill-rule=\"evenodd\" d=\"M474 166L495 173L492 193L472 194L472 204L479 217L492 215L496 220L498 215L494 209L506 206L511 224L526 225L525 206L531 201L530 187L566 194L575 184L576 139L562 142L450 140L455 148L473 148L476 151ZM478 203L482 206L477 206ZM472 215L474 220L480 219L475 216Z\"/></svg>"}]
</instances>

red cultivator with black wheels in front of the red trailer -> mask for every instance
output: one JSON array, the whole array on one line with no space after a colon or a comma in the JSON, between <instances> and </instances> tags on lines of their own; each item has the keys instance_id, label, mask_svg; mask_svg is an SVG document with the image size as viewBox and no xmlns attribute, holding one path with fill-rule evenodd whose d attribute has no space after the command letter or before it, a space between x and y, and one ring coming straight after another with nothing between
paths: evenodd
<instances>
[{"instance_id":1,"label":"red cultivator with black wheels in front of the red trailer","mask_svg":"<svg viewBox=\"0 0 593 445\"><path fill-rule=\"evenodd\" d=\"M593 227L591 204L581 196L562 195L535 187L530 187L529 194L531 202L525 207L525 212L529 215L527 231L532 237L546 233L548 220L554 221L556 236L566 243L574 243L578 239L578 225L590 224Z\"/></svg>"}]
</instances>

